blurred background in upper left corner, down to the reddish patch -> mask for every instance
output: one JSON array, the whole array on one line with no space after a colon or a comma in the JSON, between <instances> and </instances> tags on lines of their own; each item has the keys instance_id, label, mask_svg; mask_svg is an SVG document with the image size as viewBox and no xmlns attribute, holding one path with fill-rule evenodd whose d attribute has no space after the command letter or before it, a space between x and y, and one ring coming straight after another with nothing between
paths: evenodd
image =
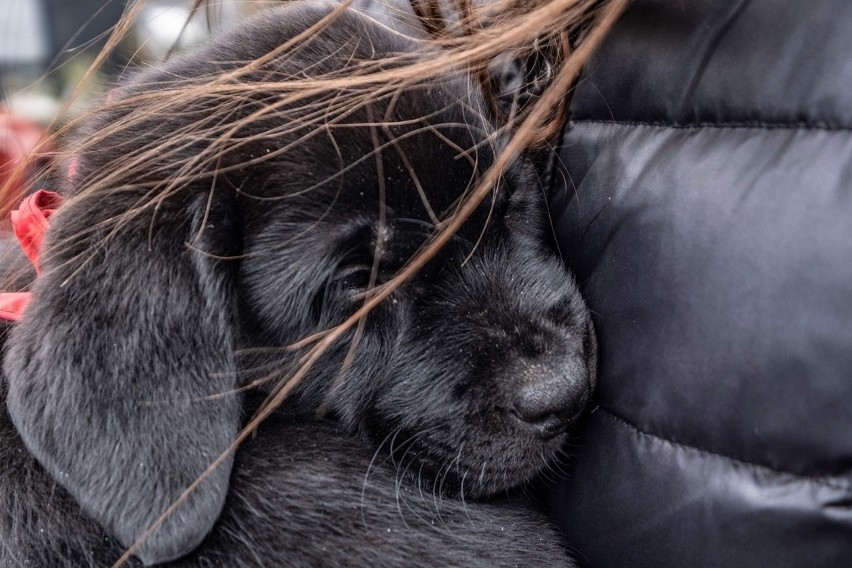
<instances>
[{"instance_id":1,"label":"blurred background in upper left corner, down to the reddish patch","mask_svg":"<svg viewBox=\"0 0 852 568\"><path fill-rule=\"evenodd\" d=\"M5 202L50 160L53 148L41 142L43 135L84 112L122 74L273 2L210 0L193 13L193 0L147 0L119 48L81 82L130 2L0 0L0 199ZM17 171L34 149L40 156L34 167Z\"/></svg>"}]
</instances>

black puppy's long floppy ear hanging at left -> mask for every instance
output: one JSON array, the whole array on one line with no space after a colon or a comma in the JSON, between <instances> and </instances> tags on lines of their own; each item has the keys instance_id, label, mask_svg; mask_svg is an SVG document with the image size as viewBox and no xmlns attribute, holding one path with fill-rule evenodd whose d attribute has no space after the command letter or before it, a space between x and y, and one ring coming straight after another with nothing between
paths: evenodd
<instances>
[{"instance_id":1,"label":"black puppy's long floppy ear hanging at left","mask_svg":"<svg viewBox=\"0 0 852 568\"><path fill-rule=\"evenodd\" d=\"M127 547L241 421L230 392L235 263L213 257L241 246L236 206L175 197L153 221L139 215L111 237L97 229L128 202L77 197L52 218L44 273L5 360L8 409L27 448ZM145 541L137 555L146 564L201 542L221 512L231 465Z\"/></svg>"}]
</instances>

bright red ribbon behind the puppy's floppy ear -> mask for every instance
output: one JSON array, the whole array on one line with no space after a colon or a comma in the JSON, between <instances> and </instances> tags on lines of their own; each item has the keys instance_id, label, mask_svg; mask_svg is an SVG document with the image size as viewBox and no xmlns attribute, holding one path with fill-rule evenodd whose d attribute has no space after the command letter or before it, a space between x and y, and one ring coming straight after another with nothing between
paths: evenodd
<instances>
[{"instance_id":1,"label":"bright red ribbon behind the puppy's floppy ear","mask_svg":"<svg viewBox=\"0 0 852 568\"><path fill-rule=\"evenodd\" d=\"M50 228L48 219L62 203L62 196L43 189L24 199L15 211L12 211L12 227L24 254L33 263L36 274L41 274L39 253L44 235ZM20 321L29 304L29 292L0 292L0 319Z\"/></svg>"}]
</instances>

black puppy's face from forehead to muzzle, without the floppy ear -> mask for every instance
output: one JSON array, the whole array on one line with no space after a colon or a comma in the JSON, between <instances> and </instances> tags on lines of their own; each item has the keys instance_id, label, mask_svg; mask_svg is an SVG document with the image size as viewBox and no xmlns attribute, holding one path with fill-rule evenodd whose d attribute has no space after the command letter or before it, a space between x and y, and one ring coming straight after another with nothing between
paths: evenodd
<instances>
[{"instance_id":1,"label":"black puppy's face from forehead to muzzle, without the floppy ear","mask_svg":"<svg viewBox=\"0 0 852 568\"><path fill-rule=\"evenodd\" d=\"M347 123L358 126L329 128L255 168L251 183L232 181L255 192L242 196L249 347L294 343L344 321L422 250L502 144L460 74L373 101ZM245 364L286 376L301 360ZM298 394L304 409L324 405L351 431L405 455L421 479L485 496L554 457L595 372L591 318L552 246L544 190L520 158Z\"/></svg>"}]
</instances>

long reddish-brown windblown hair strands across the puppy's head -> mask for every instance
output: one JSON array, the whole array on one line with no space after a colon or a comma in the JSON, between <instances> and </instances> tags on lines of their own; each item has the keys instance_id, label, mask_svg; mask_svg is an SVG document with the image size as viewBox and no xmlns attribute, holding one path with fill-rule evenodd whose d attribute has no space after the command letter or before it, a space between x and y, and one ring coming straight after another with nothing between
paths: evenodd
<instances>
[{"instance_id":1,"label":"long reddish-brown windblown hair strands across the puppy's head","mask_svg":"<svg viewBox=\"0 0 852 568\"><path fill-rule=\"evenodd\" d=\"M570 90L581 66L626 3L627 0L494 0L485 3L411 0L412 12L425 30L423 34L405 38L406 42L419 46L416 54L403 50L379 58L356 56L356 53L364 53L365 48L360 45L359 51L353 46L369 42L370 38L353 37L341 44L339 50L341 56L351 53L347 64L326 65L323 59L311 56L312 41L351 10L352 1L349 0L328 9L304 31L265 50L259 57L213 60L205 72L185 77L174 73L165 77L156 73L143 74L141 79L117 87L102 107L59 130L57 136L71 142L65 154L57 156L59 166L54 178L81 176L73 180L78 189L68 196L67 206L74 207L75 203L94 195L99 199L106 196L112 204L126 204L122 210L91 226L81 220L75 224L74 232L54 235L52 250L63 251L56 262L60 262L64 273L68 274L61 283L63 286L86 269L112 239L120 238L127 227L147 225L149 246L154 246L155 225L161 222L166 204L170 200L180 200L188 193L188 188L200 185L209 188L206 209L202 208L203 215L193 221L194 235L189 242L179 244L211 256L227 257L228 247L208 246L205 234L206 227L217 218L214 203L217 187L247 169L280 163L282 156L297 154L300 147L318 138L328 138L342 156L346 153L345 144L337 146L336 140L342 139L352 128L368 129L372 133L375 151L364 156L361 162L376 160L382 150L397 152L435 228L434 234L423 235L422 243L411 248L410 258L401 263L401 269L381 282L377 279L378 261L375 259L382 256L380 249L385 244L381 238L375 239L373 270L367 276L366 291L358 298L360 307L340 321L331 321L319 333L279 346L282 350L301 350L299 365L260 373L249 385L264 385L268 398L228 449L210 463L204 474L189 485L168 510L163 511L150 530L129 548L125 558L136 553L220 465L228 463L237 447L282 405L317 362L331 349L339 349L338 343L343 338L351 338L343 367L351 364L357 357L367 315L412 280L455 238L466 221L481 211L481 205L489 196L493 198L495 188L508 175L513 162L526 152L547 147L568 118ZM99 62L126 34L141 4L131 3ZM203 1L198 0L195 8L202 7ZM398 30L388 30L388 33L401 34ZM293 64L272 65L281 61ZM509 88L506 88L507 75L499 69L507 62L517 61L521 62L521 79L514 83L509 81ZM299 71L283 74L281 69L284 68ZM393 116L394 109L402 97L420 96L417 93L446 91L452 94L453 89L443 87L448 77L456 77L452 80L457 81L459 75L469 78L470 85L478 86L487 103L483 108L474 100L453 101L464 109L462 118L479 117L464 120L464 126L476 129L478 122L498 126L484 136L480 133L470 137L477 145L487 147L493 159L484 172L469 180L460 197L450 204L433 207L413 175L414 168L398 150L407 136L417 132L417 121ZM384 115L377 114L381 109ZM487 118L483 118L486 115ZM166 132L163 128L169 127L163 125L170 124L170 117L174 117L171 124L175 126ZM436 118L446 120L444 116ZM97 129L91 124L96 124ZM150 130L152 124L160 125L159 130ZM272 144L265 151L255 152L256 148L263 147L265 140L273 139L287 143ZM460 159L472 163L478 159L479 147L458 146L449 139L445 142L453 146ZM111 147L107 163L99 164L97 169L83 167L76 171L72 167L77 156L95 152L105 145ZM342 157L340 162L344 163ZM350 164L348 169L358 163ZM376 160L375 167L382 167L381 160ZM343 173L337 172L317 181L316 185L334 183ZM237 188L238 191L243 189ZM306 187L300 192L312 189L314 187ZM128 196L133 197L129 202ZM2 204L2 211L8 212L20 197L10 196ZM276 199L261 195L252 197ZM380 207L378 233L382 234L383 202ZM144 222L140 224L140 221ZM99 235L94 249L79 246L81 237L87 234ZM334 384L331 388L342 386Z\"/></svg>"}]
</instances>

